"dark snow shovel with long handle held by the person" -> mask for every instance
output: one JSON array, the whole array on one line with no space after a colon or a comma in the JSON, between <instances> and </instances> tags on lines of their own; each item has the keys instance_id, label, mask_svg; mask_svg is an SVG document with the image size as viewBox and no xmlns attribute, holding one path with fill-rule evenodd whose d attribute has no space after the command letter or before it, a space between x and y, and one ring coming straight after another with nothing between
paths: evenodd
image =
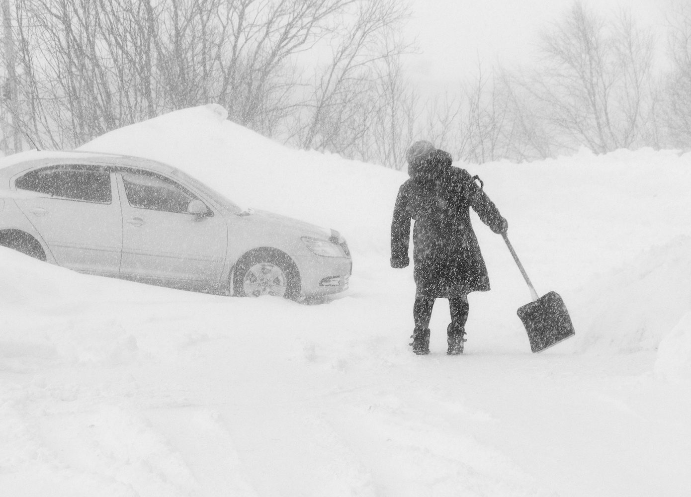
<instances>
[{"instance_id":1,"label":"dark snow shovel with long handle held by the person","mask_svg":"<svg viewBox=\"0 0 691 497\"><path fill-rule=\"evenodd\" d=\"M528 274L518 260L507 234L504 233L502 236L504 236L504 241L511 250L513 260L516 261L525 282L528 283L530 295L533 298L531 303L518 308L517 311L518 317L523 321L523 326L528 332L531 350L542 352L542 350L576 335L574 325L571 324L569 311L567 311L562 298L557 292L549 292L538 298L538 292L535 291L533 283L530 282Z\"/></svg>"}]
</instances>

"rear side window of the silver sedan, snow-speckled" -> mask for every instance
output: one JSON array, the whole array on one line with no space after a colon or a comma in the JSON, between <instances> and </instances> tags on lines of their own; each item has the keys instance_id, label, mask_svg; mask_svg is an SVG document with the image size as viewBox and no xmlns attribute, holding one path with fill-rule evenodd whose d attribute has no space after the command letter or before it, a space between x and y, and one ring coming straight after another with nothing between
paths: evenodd
<instances>
[{"instance_id":1,"label":"rear side window of the silver sedan, snow-speckled","mask_svg":"<svg viewBox=\"0 0 691 497\"><path fill-rule=\"evenodd\" d=\"M111 203L111 174L98 166L64 165L35 169L15 181L21 190L84 202Z\"/></svg>"}]
</instances>

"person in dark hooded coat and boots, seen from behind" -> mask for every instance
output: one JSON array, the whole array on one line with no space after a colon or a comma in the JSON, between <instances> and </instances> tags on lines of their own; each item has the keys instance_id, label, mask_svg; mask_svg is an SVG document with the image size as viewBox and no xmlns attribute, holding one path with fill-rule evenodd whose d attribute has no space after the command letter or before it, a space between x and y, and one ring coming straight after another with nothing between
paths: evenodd
<instances>
[{"instance_id":1,"label":"person in dark hooded coat and boots, seen from behind","mask_svg":"<svg viewBox=\"0 0 691 497\"><path fill-rule=\"evenodd\" d=\"M430 142L415 142L406 153L410 178L401 185L391 223L391 266L405 268L413 228L415 303L413 352L429 353L429 322L435 299L448 299L449 355L463 352L468 294L489 290L489 277L471 225L470 207L498 234L508 224L475 177L453 167L448 152ZM477 178L479 180L479 178ZM480 182L482 183L482 182Z\"/></svg>"}]
</instances>

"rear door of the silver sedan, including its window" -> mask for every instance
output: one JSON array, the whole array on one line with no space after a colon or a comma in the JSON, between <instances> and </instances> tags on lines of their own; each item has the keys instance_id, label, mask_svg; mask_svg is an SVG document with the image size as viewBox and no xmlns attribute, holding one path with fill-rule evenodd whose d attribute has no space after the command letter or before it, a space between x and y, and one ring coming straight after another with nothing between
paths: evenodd
<instances>
[{"instance_id":1,"label":"rear door of the silver sedan, including its window","mask_svg":"<svg viewBox=\"0 0 691 497\"><path fill-rule=\"evenodd\" d=\"M17 205L66 268L117 274L122 250L120 201L115 175L97 165L32 169L15 179Z\"/></svg>"}]
</instances>

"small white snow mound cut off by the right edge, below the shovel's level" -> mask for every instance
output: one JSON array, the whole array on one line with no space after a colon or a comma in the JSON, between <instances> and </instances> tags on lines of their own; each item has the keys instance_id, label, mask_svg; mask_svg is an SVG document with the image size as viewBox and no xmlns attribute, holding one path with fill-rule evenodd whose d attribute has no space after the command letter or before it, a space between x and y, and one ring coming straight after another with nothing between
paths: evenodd
<instances>
[{"instance_id":1,"label":"small white snow mound cut off by the right edge, below the shovel's level","mask_svg":"<svg viewBox=\"0 0 691 497\"><path fill-rule=\"evenodd\" d=\"M691 383L691 312L660 342L654 371L673 383Z\"/></svg>"}]
</instances>

